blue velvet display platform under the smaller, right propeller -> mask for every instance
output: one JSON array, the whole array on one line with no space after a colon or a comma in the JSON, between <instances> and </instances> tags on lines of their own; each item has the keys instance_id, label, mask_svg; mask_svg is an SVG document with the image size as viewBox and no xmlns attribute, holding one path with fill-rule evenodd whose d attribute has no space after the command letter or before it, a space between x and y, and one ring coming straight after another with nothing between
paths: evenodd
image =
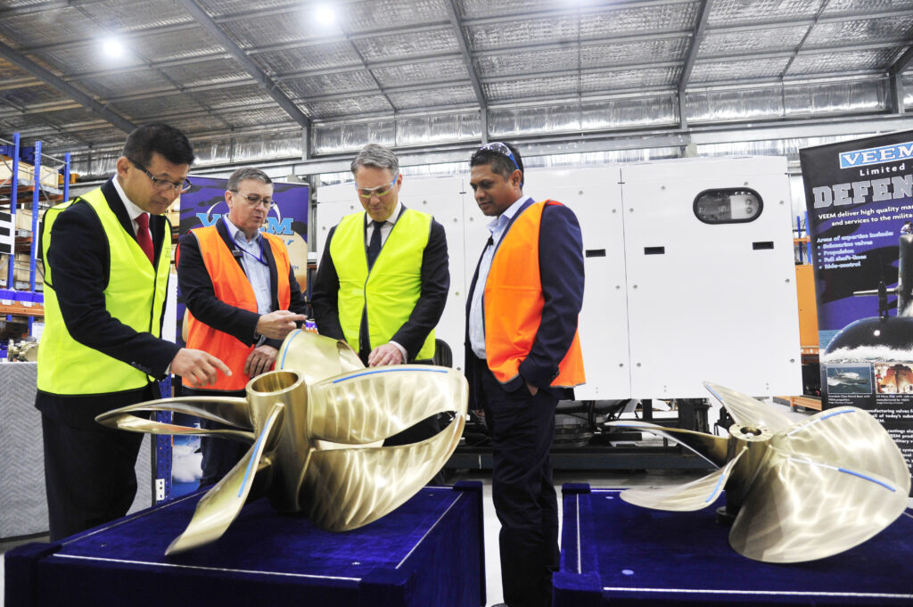
<instances>
[{"instance_id":1,"label":"blue velvet display platform under the smaller, right propeller","mask_svg":"<svg viewBox=\"0 0 913 607\"><path fill-rule=\"evenodd\" d=\"M632 506L619 489L565 485L562 493L554 607L913 605L909 508L854 549L782 565L729 547L729 528L714 518L723 497L696 512L666 512Z\"/></svg>"}]
</instances>

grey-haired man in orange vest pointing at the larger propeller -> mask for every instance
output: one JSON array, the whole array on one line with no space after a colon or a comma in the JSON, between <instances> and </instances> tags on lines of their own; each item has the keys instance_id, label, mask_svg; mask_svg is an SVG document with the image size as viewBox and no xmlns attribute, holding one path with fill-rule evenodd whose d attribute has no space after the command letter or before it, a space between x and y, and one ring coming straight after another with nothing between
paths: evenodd
<instances>
[{"instance_id":1,"label":"grey-haired man in orange vest pointing at the larger propeller","mask_svg":"<svg viewBox=\"0 0 913 607\"><path fill-rule=\"evenodd\" d=\"M278 236L260 232L272 195L266 173L238 169L228 178L228 215L181 238L177 277L188 310L188 348L214 353L232 370L206 390L184 378L186 395L244 396L247 382L273 368L281 340L307 318L288 249ZM201 487L225 476L247 451L218 438L200 443Z\"/></svg>"}]
</instances>

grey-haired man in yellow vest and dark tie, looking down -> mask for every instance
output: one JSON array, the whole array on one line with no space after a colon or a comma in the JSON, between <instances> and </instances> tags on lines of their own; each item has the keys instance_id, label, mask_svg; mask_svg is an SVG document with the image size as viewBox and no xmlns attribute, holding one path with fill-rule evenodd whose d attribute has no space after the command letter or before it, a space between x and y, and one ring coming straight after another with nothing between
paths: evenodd
<instances>
[{"instance_id":1,"label":"grey-haired man in yellow vest and dark tie, looking down","mask_svg":"<svg viewBox=\"0 0 913 607\"><path fill-rule=\"evenodd\" d=\"M365 146L352 174L364 213L327 235L312 297L317 329L370 366L429 361L450 288L444 227L400 203L393 151Z\"/></svg>"}]
</instances>

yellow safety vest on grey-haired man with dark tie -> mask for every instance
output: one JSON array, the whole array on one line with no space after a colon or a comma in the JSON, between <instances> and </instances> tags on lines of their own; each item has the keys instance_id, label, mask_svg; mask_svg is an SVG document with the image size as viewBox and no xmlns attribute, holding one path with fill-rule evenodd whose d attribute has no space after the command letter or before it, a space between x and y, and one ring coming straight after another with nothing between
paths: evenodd
<instances>
[{"instance_id":1,"label":"yellow safety vest on grey-haired man with dark tie","mask_svg":"<svg viewBox=\"0 0 913 607\"><path fill-rule=\"evenodd\" d=\"M406 209L368 271L364 213L342 218L330 242L330 256L340 279L340 325L346 341L359 350L362 310L367 302L372 347L390 341L422 294L422 256L431 235L431 215ZM425 338L416 359L435 355L435 331Z\"/></svg>"}]
</instances>

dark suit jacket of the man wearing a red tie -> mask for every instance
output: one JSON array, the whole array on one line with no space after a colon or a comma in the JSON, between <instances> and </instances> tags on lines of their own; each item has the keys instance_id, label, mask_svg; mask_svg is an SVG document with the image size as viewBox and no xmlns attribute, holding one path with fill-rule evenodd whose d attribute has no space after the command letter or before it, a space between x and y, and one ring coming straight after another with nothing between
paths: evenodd
<instances>
[{"instance_id":1,"label":"dark suit jacket of the man wearing a red tie","mask_svg":"<svg viewBox=\"0 0 913 607\"><path fill-rule=\"evenodd\" d=\"M114 178L112 178L114 179ZM123 229L135 238L127 209L111 180L101 186ZM163 215L151 215L149 230L155 258L164 239L171 238L171 226ZM39 244L38 250L42 248ZM88 203L75 202L58 215L51 228L51 242L44 260L51 267L50 285L58 297L60 314L74 340L146 372L159 380L180 348L152 333L137 332L110 316L105 308L104 289L110 274L110 247L99 216ZM116 263L116 260L115 260ZM161 326L164 317L158 319ZM89 396L62 396L37 392L35 404L42 412L72 425L98 427L95 415L148 398L159 398L150 383L140 390L109 392Z\"/></svg>"}]
</instances>

